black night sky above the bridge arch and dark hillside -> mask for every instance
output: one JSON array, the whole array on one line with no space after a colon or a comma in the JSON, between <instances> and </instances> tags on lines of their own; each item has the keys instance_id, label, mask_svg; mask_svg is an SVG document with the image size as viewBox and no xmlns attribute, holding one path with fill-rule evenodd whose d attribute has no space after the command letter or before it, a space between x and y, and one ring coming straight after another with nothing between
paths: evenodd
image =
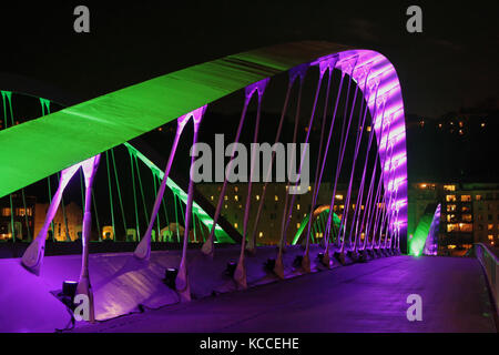
<instances>
[{"instance_id":1,"label":"black night sky above the bridge arch and dark hillside","mask_svg":"<svg viewBox=\"0 0 499 355\"><path fill-rule=\"evenodd\" d=\"M497 1L102 2L2 3L0 72L90 99L258 47L327 40L390 59L407 113L439 116L499 97ZM73 31L78 4L90 8L89 34ZM422 33L406 31L410 4L422 9Z\"/></svg>"}]
</instances>

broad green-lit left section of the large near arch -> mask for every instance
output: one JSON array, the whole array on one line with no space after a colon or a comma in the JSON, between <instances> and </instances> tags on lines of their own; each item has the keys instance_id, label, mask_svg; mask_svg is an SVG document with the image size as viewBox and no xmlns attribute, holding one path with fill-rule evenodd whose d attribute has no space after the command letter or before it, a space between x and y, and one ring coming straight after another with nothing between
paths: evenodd
<instances>
[{"instance_id":1,"label":"broad green-lit left section of the large near arch","mask_svg":"<svg viewBox=\"0 0 499 355\"><path fill-rule=\"evenodd\" d=\"M346 49L310 41L252 50L151 79L1 131L0 197L248 84Z\"/></svg>"}]
</instances>

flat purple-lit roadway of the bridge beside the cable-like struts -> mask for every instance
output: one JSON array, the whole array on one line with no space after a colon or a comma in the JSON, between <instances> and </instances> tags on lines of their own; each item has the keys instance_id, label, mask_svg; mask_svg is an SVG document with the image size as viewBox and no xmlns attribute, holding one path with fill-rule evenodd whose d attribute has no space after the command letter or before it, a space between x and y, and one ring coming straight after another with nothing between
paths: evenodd
<instances>
[{"instance_id":1,"label":"flat purple-lit roadway of the bridge beside the cable-like struts","mask_svg":"<svg viewBox=\"0 0 499 355\"><path fill-rule=\"evenodd\" d=\"M406 318L409 294L422 321ZM475 258L397 256L77 327L77 332L497 332Z\"/></svg>"}]
</instances>

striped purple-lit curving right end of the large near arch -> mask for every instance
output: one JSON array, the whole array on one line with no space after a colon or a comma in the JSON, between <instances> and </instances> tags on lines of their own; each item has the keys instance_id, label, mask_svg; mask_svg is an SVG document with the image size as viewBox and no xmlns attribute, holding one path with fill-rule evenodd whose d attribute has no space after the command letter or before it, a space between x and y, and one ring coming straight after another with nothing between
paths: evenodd
<instances>
[{"instance_id":1,"label":"striped purple-lit curving right end of the large near arch","mask_svg":"<svg viewBox=\"0 0 499 355\"><path fill-rule=\"evenodd\" d=\"M388 230L396 239L395 242L400 242L397 246L405 251L407 247L406 122L397 72L386 57L371 50L340 51L322 57L312 64L320 65L324 62L333 63L332 65L336 62L335 69L344 74L353 73L353 80L364 98L368 100L379 161L384 162L383 186L387 213L394 216ZM400 240L397 241L397 239Z\"/></svg>"}]
</instances>

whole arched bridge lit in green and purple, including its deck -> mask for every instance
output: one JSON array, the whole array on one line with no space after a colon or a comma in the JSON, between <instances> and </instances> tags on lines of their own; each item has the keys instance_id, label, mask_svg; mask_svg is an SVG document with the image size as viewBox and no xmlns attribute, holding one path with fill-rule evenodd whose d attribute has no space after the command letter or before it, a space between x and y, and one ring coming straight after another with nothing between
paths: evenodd
<instances>
[{"instance_id":1,"label":"whole arched bridge lit in green and purple, including its deck","mask_svg":"<svg viewBox=\"0 0 499 355\"><path fill-rule=\"evenodd\" d=\"M211 106L237 93L243 94L241 116L235 132L226 134L238 143L247 131L252 143L262 142L269 126L264 100L279 89L273 85L279 80L285 94L272 143L310 143L312 149L286 162L298 180L282 185L284 201L275 194L278 219L271 217L272 236L263 243L258 231L267 223L269 178L281 163L275 151L264 160L267 179L254 181L259 168L252 160L244 189L231 195L242 223L226 211L234 185L230 176L223 176L216 199L208 197L189 174L194 156L187 158L187 169L175 164L182 139L196 144L203 128L216 124ZM292 331L291 324L302 322L301 331L309 332L496 332L490 295L497 295L497 257L483 246L477 246L476 258L419 256L435 255L439 207L428 211L408 240L401 88L380 53L327 42L288 43L80 103L32 89L1 89L0 196L7 199L8 217L1 235L9 245L23 246L22 257L0 261L0 329L64 328L74 321L68 312L74 296L84 295L89 324L79 323L82 331L138 331L139 324L167 332ZM17 103L22 111L33 101L41 116L21 120ZM292 136L284 136L289 115ZM172 132L167 154L147 140L163 130ZM234 145L226 171L234 171L236 153ZM302 186L307 161L310 181ZM29 197L40 191L48 203L37 224ZM303 195L309 203L301 210ZM75 226L68 222L64 197L81 205ZM54 223L58 213L61 222ZM81 256L45 255L64 243L81 245ZM132 245L133 252L92 253L95 243L108 243L108 250L109 243ZM411 294L424 300L426 322L408 321ZM277 322L276 307L288 322ZM217 318L213 310L230 316ZM126 314L130 322L121 328L109 326Z\"/></svg>"}]
</instances>

